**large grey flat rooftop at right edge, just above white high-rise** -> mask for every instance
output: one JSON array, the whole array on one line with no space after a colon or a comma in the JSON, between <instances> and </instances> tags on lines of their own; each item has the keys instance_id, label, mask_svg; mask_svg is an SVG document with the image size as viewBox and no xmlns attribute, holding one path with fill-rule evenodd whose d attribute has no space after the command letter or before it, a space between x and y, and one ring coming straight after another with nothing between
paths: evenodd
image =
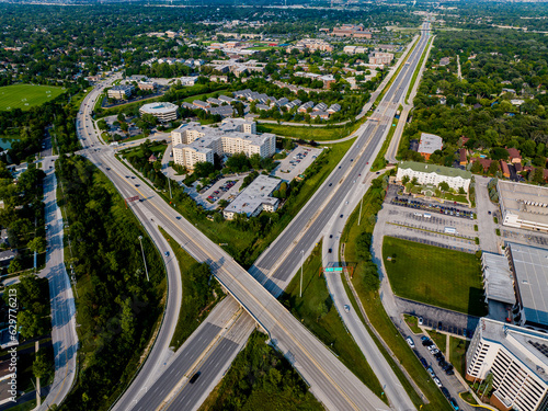
<instances>
[{"instance_id":1,"label":"large grey flat rooftop at right edge, just above white high-rise","mask_svg":"<svg viewBox=\"0 0 548 411\"><path fill-rule=\"evenodd\" d=\"M513 242L506 246L514 261L525 319L548 326L548 250Z\"/></svg>"}]
</instances>

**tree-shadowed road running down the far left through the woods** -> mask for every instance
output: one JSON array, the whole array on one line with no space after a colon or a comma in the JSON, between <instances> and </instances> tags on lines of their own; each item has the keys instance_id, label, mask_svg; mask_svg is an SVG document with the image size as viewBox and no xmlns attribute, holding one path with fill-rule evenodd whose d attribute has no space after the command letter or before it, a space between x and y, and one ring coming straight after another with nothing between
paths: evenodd
<instances>
[{"instance_id":1,"label":"tree-shadowed road running down the far left through the woods","mask_svg":"<svg viewBox=\"0 0 548 411\"><path fill-rule=\"evenodd\" d=\"M54 164L56 157L47 157L42 162L46 173L44 180L44 204L46 217L46 267L39 276L49 284L52 305L52 344L54 346L55 376L45 401L38 410L60 403L72 388L76 377L76 355L78 335L76 333L76 305L70 279L65 269L62 244L62 216L57 206Z\"/></svg>"}]
</instances>

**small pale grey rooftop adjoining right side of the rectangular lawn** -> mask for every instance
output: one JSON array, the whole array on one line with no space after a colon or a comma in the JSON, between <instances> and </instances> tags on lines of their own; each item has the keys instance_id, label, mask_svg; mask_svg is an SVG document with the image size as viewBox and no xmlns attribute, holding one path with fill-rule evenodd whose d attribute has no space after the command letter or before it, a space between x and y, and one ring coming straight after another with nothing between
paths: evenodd
<instances>
[{"instance_id":1,"label":"small pale grey rooftop adjoining right side of the rectangular lawn","mask_svg":"<svg viewBox=\"0 0 548 411\"><path fill-rule=\"evenodd\" d=\"M513 306L515 304L514 283L509 259L504 255L483 251L481 263L483 265L487 298Z\"/></svg>"}]
</instances>

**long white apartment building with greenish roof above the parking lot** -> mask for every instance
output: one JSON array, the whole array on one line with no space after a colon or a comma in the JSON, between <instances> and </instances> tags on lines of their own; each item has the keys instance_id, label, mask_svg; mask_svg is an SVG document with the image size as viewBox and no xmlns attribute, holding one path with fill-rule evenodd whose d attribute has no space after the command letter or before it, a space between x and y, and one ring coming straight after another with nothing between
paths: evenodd
<instances>
[{"instance_id":1,"label":"long white apartment building with greenish roof above the parking lot","mask_svg":"<svg viewBox=\"0 0 548 411\"><path fill-rule=\"evenodd\" d=\"M416 178L416 181L421 185L437 187L441 182L445 181L449 187L454 190L463 187L467 192L472 178L469 171L413 161L402 161L398 165L396 181L401 182L404 175L408 175L410 180Z\"/></svg>"}]
</instances>

